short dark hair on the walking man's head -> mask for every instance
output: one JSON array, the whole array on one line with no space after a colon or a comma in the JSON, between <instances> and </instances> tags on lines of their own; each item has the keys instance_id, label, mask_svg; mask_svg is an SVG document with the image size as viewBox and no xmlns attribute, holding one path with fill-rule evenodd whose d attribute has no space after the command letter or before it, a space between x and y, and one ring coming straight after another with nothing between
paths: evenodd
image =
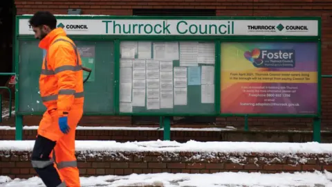
<instances>
[{"instance_id":1,"label":"short dark hair on the walking man's head","mask_svg":"<svg viewBox=\"0 0 332 187\"><path fill-rule=\"evenodd\" d=\"M57 19L48 11L38 11L30 18L29 24L34 27L45 25L49 26L50 29L55 29L57 26Z\"/></svg>"}]
</instances>

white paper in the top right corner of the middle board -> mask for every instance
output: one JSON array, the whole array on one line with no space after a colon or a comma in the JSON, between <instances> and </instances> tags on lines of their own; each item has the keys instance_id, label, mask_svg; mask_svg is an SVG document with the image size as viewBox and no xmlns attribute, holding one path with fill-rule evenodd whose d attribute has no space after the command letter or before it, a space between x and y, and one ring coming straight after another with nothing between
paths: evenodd
<instances>
[{"instance_id":1,"label":"white paper in the top right corner of the middle board","mask_svg":"<svg viewBox=\"0 0 332 187\"><path fill-rule=\"evenodd\" d=\"M214 43L200 43L199 63L214 64L214 61L215 61Z\"/></svg>"}]
</instances>

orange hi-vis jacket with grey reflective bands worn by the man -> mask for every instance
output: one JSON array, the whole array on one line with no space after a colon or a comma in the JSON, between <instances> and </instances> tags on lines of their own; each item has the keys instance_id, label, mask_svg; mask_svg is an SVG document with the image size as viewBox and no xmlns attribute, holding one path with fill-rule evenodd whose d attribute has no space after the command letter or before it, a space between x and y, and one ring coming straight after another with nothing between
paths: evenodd
<instances>
[{"instance_id":1,"label":"orange hi-vis jacket with grey reflective bands worn by the man","mask_svg":"<svg viewBox=\"0 0 332 187\"><path fill-rule=\"evenodd\" d=\"M46 49L39 77L39 91L48 110L68 114L75 104L84 103L82 61L77 47L62 28L55 28L39 47Z\"/></svg>"}]
</instances>

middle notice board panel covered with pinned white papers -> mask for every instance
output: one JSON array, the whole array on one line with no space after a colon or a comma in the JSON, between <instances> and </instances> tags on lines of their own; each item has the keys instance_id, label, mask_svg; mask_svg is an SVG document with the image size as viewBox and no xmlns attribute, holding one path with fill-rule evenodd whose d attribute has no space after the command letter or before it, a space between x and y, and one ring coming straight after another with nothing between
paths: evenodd
<instances>
[{"instance_id":1,"label":"middle notice board panel covered with pinned white papers","mask_svg":"<svg viewBox=\"0 0 332 187\"><path fill-rule=\"evenodd\" d=\"M120 113L214 114L214 42L121 42Z\"/></svg>"}]
</instances>

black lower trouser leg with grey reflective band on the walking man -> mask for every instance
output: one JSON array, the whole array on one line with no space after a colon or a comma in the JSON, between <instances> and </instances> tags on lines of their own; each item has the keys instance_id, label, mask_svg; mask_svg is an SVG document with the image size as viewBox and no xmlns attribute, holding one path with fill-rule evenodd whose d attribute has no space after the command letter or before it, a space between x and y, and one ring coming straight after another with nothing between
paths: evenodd
<instances>
[{"instance_id":1,"label":"black lower trouser leg with grey reflective band on the walking man","mask_svg":"<svg viewBox=\"0 0 332 187\"><path fill-rule=\"evenodd\" d=\"M47 187L66 187L66 184L61 181L59 173L54 167L53 159L50 159L50 152L55 147L55 143L55 141L38 135L33 147L31 163Z\"/></svg>"}]
</instances>

